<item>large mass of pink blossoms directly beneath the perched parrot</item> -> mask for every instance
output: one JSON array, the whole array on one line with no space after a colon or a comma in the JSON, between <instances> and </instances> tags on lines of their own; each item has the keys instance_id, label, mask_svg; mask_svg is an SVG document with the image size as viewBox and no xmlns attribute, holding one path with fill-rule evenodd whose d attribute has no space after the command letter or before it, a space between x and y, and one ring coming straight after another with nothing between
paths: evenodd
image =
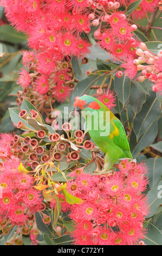
<instances>
[{"instance_id":1,"label":"large mass of pink blossoms directly beneath the perched parrot","mask_svg":"<svg viewBox=\"0 0 162 256\"><path fill-rule=\"evenodd\" d=\"M114 175L80 171L67 181L69 193L84 201L70 207L76 245L134 245L144 239L146 173L144 163L122 160Z\"/></svg>"}]
</instances>

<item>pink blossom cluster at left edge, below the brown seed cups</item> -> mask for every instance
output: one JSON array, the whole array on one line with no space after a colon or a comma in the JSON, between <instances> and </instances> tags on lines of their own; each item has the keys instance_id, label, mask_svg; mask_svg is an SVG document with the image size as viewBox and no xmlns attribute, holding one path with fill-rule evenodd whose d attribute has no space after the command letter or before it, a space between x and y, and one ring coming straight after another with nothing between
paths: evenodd
<instances>
[{"instance_id":1,"label":"pink blossom cluster at left edge, below the brown seed cups","mask_svg":"<svg viewBox=\"0 0 162 256\"><path fill-rule=\"evenodd\" d=\"M24 225L30 214L42 208L42 198L33 187L32 176L18 170L19 166L20 160L11 156L0 169L0 220L3 227L4 222L6 225Z\"/></svg>"}]
</instances>

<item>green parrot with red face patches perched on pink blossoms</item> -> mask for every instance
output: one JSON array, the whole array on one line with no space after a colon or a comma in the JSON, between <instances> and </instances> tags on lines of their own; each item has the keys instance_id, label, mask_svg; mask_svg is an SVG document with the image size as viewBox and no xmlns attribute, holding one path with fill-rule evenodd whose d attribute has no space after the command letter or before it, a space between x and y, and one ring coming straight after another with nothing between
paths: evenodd
<instances>
[{"instance_id":1,"label":"green parrot with red face patches perched on pink blossoms","mask_svg":"<svg viewBox=\"0 0 162 256\"><path fill-rule=\"evenodd\" d=\"M102 102L83 95L75 100L74 107L76 115L85 117L90 137L105 153L105 164L99 175L111 173L119 159L133 159L124 126Z\"/></svg>"}]
</instances>

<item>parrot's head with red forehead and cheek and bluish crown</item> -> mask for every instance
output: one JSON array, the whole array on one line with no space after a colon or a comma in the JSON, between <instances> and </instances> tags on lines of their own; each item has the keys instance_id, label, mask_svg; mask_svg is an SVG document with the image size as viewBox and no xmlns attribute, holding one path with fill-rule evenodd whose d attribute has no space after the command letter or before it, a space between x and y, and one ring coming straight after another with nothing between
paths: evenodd
<instances>
[{"instance_id":1,"label":"parrot's head with red forehead and cheek and bluish crown","mask_svg":"<svg viewBox=\"0 0 162 256\"><path fill-rule=\"evenodd\" d=\"M98 111L101 108L100 101L89 95L83 95L74 102L75 114L81 115L82 111Z\"/></svg>"}]
</instances>

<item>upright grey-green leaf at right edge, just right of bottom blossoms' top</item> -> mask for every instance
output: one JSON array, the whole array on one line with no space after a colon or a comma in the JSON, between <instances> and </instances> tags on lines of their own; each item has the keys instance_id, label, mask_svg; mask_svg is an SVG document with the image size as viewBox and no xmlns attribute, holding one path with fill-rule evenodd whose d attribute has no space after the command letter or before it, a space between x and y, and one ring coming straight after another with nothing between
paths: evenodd
<instances>
[{"instance_id":1,"label":"upright grey-green leaf at right edge, just right of bottom blossoms' top","mask_svg":"<svg viewBox=\"0 0 162 256\"><path fill-rule=\"evenodd\" d=\"M148 167L148 185L152 190L161 179L162 157L150 157L147 159L146 165Z\"/></svg>"}]
</instances>

